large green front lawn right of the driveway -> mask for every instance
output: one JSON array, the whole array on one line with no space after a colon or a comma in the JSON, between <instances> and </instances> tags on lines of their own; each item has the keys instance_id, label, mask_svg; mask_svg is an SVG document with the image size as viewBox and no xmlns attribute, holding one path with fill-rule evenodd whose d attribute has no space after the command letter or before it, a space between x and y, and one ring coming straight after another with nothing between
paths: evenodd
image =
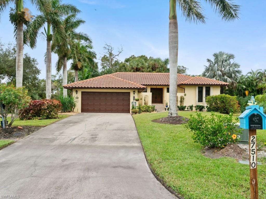
<instances>
[{"instance_id":1,"label":"large green front lawn right of the driveway","mask_svg":"<svg viewBox=\"0 0 266 199\"><path fill-rule=\"evenodd\" d=\"M179 111L189 118L195 112ZM183 125L151 122L168 112L136 114L133 118L148 162L164 182L185 198L249 198L249 166L233 158L206 158ZM208 112L202 112L210 115ZM237 117L237 116L235 116ZM266 141L266 131L257 133ZM259 197L266 198L266 165L258 165Z\"/></svg>"}]
</instances>

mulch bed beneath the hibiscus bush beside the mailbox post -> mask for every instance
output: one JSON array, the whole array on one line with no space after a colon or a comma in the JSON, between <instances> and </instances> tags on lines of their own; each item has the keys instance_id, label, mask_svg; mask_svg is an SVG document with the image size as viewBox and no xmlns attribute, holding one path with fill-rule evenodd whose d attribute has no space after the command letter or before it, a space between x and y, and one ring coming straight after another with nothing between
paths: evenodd
<instances>
[{"instance_id":1,"label":"mulch bed beneath the hibiscus bush beside the mailbox post","mask_svg":"<svg viewBox=\"0 0 266 199\"><path fill-rule=\"evenodd\" d=\"M203 153L208 158L231 157L237 160L243 160L249 158L248 154L246 153L246 150L242 149L237 144L228 144L223 149L206 147Z\"/></svg>"}]
</instances>

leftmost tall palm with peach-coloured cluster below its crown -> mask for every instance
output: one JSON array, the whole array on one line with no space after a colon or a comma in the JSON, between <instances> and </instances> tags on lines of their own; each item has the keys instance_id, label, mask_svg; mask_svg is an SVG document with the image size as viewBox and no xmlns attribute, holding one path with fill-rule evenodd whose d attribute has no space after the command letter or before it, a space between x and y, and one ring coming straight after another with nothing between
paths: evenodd
<instances>
[{"instance_id":1,"label":"leftmost tall palm with peach-coloured cluster below its crown","mask_svg":"<svg viewBox=\"0 0 266 199\"><path fill-rule=\"evenodd\" d=\"M23 24L27 24L31 20L31 15L27 8L23 9L23 0L3 0L0 1L0 16L11 2L15 3L15 9L11 9L10 12L10 21L14 25L14 33L16 36L16 87L22 87L24 44ZM31 3L34 2L34 0L31 0Z\"/></svg>"}]
</instances>

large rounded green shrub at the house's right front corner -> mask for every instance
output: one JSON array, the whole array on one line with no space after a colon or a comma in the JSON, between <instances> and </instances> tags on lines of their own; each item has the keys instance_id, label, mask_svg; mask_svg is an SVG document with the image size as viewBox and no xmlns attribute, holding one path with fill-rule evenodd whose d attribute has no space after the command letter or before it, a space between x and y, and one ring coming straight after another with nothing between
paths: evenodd
<instances>
[{"instance_id":1,"label":"large rounded green shrub at the house's right front corner","mask_svg":"<svg viewBox=\"0 0 266 199\"><path fill-rule=\"evenodd\" d=\"M230 96L227 94L207 96L206 103L208 104L209 111L224 114L240 112L240 106L236 100L236 96Z\"/></svg>"}]
</instances>

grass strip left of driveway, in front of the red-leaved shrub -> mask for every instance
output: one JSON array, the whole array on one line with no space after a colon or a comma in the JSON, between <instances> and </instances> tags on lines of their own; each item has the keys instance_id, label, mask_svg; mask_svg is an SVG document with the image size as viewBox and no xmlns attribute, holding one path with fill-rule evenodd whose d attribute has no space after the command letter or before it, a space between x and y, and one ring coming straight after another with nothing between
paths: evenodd
<instances>
[{"instance_id":1,"label":"grass strip left of driveway, in front of the red-leaved shrub","mask_svg":"<svg viewBox=\"0 0 266 199\"><path fill-rule=\"evenodd\" d=\"M54 122L57 122L61 119L67 118L70 115L58 115L58 118L56 119L42 119L42 120L20 120L16 119L12 126L35 126L35 127L45 127L49 124L52 124ZM10 121L11 117L7 117L7 120ZM2 118L0 118L0 121L2 121Z\"/></svg>"}]
</instances>

